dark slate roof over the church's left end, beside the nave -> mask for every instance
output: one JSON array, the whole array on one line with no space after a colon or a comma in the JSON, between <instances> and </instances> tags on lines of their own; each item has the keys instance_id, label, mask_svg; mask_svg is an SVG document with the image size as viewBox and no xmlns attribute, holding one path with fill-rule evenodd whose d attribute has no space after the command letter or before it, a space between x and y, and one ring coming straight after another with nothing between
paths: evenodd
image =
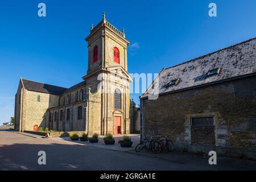
<instances>
[{"instance_id":1,"label":"dark slate roof over the church's left end, beside the nave","mask_svg":"<svg viewBox=\"0 0 256 182\"><path fill-rule=\"evenodd\" d=\"M25 89L31 90L34 92L42 92L42 93L61 95L67 90L67 88L63 88L60 86L43 84L40 82L25 80L23 78L22 78L22 82L23 82Z\"/></svg>"}]
</instances>

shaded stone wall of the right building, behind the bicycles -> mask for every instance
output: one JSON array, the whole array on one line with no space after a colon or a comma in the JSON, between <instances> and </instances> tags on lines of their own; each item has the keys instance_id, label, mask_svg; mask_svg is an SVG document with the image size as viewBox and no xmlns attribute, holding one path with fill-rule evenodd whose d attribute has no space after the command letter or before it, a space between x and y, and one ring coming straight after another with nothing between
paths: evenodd
<instances>
[{"instance_id":1,"label":"shaded stone wall of the right building, behind the bicycles","mask_svg":"<svg viewBox=\"0 0 256 182\"><path fill-rule=\"evenodd\" d=\"M177 148L256 158L255 94L254 76L144 100L144 134L171 135ZM213 117L213 132L194 131L193 117Z\"/></svg>"}]
</instances>

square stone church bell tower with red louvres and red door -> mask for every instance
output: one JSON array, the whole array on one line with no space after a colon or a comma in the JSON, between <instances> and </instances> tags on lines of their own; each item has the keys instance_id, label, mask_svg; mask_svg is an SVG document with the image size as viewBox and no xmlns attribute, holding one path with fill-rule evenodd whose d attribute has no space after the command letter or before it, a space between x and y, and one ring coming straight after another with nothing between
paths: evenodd
<instances>
[{"instance_id":1,"label":"square stone church bell tower with red louvres and red door","mask_svg":"<svg viewBox=\"0 0 256 182\"><path fill-rule=\"evenodd\" d=\"M132 78L127 72L125 30L119 31L106 20L90 28L88 42L88 70L84 76L88 88L88 133L130 133L130 90ZM99 75L101 76L99 79ZM100 86L99 86L100 85Z\"/></svg>"}]
</instances>

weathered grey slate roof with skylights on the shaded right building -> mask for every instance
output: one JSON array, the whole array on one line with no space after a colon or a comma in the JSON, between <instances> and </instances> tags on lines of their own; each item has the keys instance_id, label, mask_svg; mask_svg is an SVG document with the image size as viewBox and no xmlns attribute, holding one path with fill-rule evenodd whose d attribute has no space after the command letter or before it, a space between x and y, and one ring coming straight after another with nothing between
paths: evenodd
<instances>
[{"instance_id":1,"label":"weathered grey slate roof with skylights on the shaded right building","mask_svg":"<svg viewBox=\"0 0 256 182\"><path fill-rule=\"evenodd\" d=\"M218 75L207 76L211 69L219 67L221 71ZM254 73L256 75L256 38L197 57L174 67L164 68L159 74L159 94L177 92L238 76L254 75ZM166 86L177 78L180 79L177 85ZM151 88L148 88L148 91L150 92ZM146 92L142 98L147 96Z\"/></svg>"}]
</instances>

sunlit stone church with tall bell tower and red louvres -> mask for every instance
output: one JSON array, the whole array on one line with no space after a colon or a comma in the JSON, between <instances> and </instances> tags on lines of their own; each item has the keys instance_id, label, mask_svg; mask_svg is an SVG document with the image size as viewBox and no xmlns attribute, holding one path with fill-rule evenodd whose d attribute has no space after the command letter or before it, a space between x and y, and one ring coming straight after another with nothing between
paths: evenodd
<instances>
[{"instance_id":1,"label":"sunlit stone church with tall bell tower and red louvres","mask_svg":"<svg viewBox=\"0 0 256 182\"><path fill-rule=\"evenodd\" d=\"M105 18L91 26L88 42L88 71L71 88L20 78L15 95L15 130L130 133L132 78L127 72L124 29L119 31Z\"/></svg>"}]
</instances>

